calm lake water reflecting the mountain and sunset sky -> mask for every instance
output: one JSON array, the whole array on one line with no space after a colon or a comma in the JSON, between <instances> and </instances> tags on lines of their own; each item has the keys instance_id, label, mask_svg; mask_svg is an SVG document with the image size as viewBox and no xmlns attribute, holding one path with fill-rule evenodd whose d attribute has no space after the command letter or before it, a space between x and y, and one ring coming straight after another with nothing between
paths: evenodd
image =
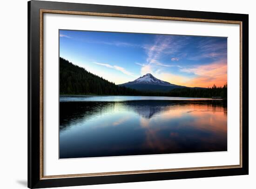
<instances>
[{"instance_id":1,"label":"calm lake water reflecting the mountain and sunset sky","mask_svg":"<svg viewBox=\"0 0 256 189\"><path fill-rule=\"evenodd\" d=\"M209 151L227 151L225 101L60 97L60 158Z\"/></svg>"}]
</instances>

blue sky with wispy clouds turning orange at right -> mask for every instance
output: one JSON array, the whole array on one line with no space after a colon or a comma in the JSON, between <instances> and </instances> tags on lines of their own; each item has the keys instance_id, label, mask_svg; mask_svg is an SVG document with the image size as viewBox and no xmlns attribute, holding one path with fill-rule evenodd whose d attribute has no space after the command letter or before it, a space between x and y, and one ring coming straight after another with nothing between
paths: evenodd
<instances>
[{"instance_id":1,"label":"blue sky with wispy clouds turning orange at right","mask_svg":"<svg viewBox=\"0 0 256 189\"><path fill-rule=\"evenodd\" d=\"M60 57L115 84L147 73L187 87L227 82L227 38L60 30Z\"/></svg>"}]
</instances>

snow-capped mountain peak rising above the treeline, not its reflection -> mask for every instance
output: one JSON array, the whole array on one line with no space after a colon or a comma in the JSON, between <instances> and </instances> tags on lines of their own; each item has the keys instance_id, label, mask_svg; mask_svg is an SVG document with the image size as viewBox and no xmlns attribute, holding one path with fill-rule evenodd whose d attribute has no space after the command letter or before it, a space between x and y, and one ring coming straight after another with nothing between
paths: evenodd
<instances>
[{"instance_id":1,"label":"snow-capped mountain peak rising above the treeline, not its reflection","mask_svg":"<svg viewBox=\"0 0 256 189\"><path fill-rule=\"evenodd\" d=\"M157 79L152 74L146 74L144 76L135 79L133 82L127 82L120 84L127 88L133 88L140 91L154 91L154 92L168 92L174 88L187 88L180 85L175 85L169 82Z\"/></svg>"}]
</instances>

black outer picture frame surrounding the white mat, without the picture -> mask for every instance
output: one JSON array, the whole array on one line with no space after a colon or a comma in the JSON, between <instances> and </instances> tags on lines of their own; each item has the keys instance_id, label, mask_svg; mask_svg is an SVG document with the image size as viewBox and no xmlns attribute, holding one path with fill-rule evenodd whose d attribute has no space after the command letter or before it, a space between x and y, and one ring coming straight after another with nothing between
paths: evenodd
<instances>
[{"instance_id":1,"label":"black outer picture frame surrounding the white mat, without the picture","mask_svg":"<svg viewBox=\"0 0 256 189\"><path fill-rule=\"evenodd\" d=\"M235 13L213 13L201 11L169 10L128 6L29 1L28 8L28 187L47 188L106 183L128 183L170 179L235 176L249 174L249 15ZM78 176L65 178L43 178L40 171L40 10L60 10L91 13L114 13L157 17L230 20L242 23L242 166L229 169L184 170L151 172L108 176Z\"/></svg>"}]
</instances>

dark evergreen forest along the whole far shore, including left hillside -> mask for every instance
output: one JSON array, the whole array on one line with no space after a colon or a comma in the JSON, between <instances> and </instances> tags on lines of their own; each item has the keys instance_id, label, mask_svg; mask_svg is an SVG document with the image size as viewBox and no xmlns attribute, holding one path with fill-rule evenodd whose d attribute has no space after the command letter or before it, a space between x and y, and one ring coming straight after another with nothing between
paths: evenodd
<instances>
[{"instance_id":1,"label":"dark evergreen forest along the whole far shore, including left hillside","mask_svg":"<svg viewBox=\"0 0 256 189\"><path fill-rule=\"evenodd\" d=\"M134 95L173 97L221 97L227 99L227 84L211 88L175 88L167 93L139 91L115 85L60 57L60 95Z\"/></svg>"}]
</instances>

